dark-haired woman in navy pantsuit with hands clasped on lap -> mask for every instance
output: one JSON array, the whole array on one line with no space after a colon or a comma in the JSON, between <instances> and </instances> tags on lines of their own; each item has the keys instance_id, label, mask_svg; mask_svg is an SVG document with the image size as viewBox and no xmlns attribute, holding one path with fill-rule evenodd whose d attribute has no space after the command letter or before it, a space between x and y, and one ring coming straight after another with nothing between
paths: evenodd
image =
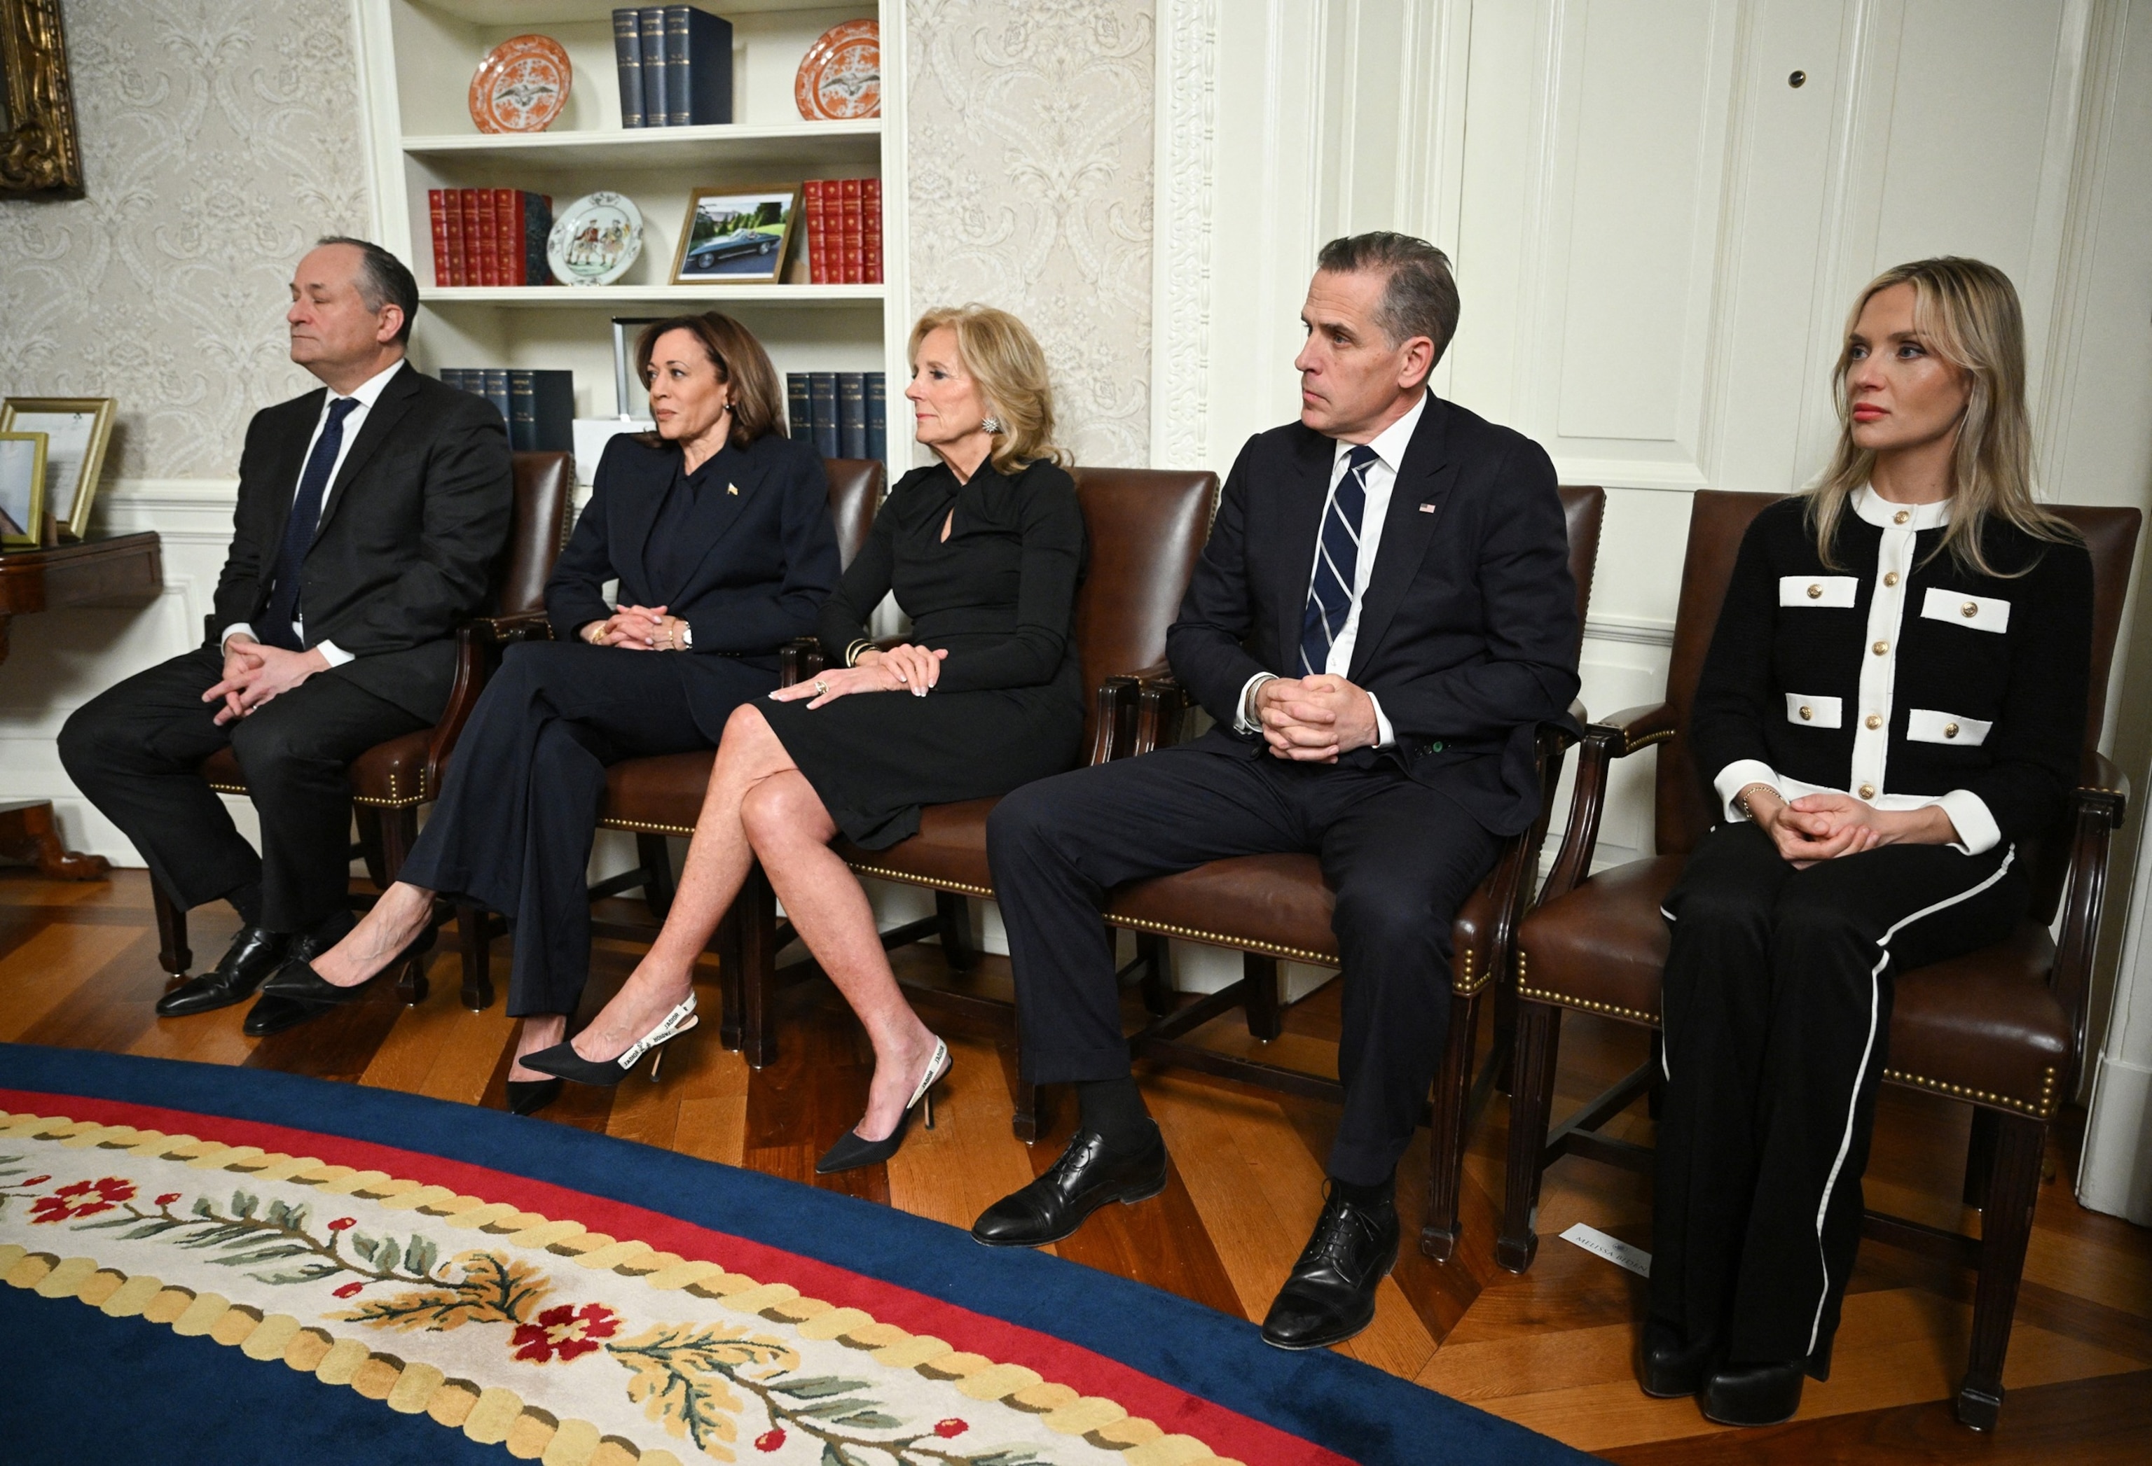
<instances>
[{"instance_id":1,"label":"dark-haired woman in navy pantsuit with hands clasped on lap","mask_svg":"<svg viewBox=\"0 0 2152 1466\"><path fill-rule=\"evenodd\" d=\"M590 974L590 864L605 767L712 748L736 707L777 686L777 649L837 585L829 479L785 436L762 344L717 312L648 327L635 346L656 432L605 447L590 505L547 580L557 641L510 647L456 744L433 819L351 935L286 963L263 1002L327 1012L426 933L437 892L508 916L508 1012L523 1019L508 1103L560 1079L553 1047ZM620 580L618 606L600 595ZM678 1019L693 1023L691 1010Z\"/></svg>"}]
</instances>

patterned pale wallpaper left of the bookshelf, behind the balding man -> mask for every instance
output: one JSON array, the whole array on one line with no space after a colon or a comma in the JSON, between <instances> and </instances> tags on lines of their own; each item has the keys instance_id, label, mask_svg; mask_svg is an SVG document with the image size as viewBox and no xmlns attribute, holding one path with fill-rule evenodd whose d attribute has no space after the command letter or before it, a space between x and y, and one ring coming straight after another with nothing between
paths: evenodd
<instances>
[{"instance_id":1,"label":"patterned pale wallpaper left of the bookshelf, behind the balding man","mask_svg":"<svg viewBox=\"0 0 2152 1466\"><path fill-rule=\"evenodd\" d=\"M67 0L86 198L0 202L0 391L118 398L125 477L239 473L291 267L364 234L349 0Z\"/></svg>"}]
</instances>

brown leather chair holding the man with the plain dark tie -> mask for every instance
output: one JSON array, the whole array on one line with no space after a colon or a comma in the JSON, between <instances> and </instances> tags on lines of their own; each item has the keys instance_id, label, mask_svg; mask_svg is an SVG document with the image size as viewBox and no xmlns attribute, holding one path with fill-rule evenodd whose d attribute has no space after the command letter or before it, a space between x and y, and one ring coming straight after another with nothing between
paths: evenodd
<instances>
[{"instance_id":1,"label":"brown leather chair holding the man with the plain dark tie","mask_svg":"<svg viewBox=\"0 0 2152 1466\"><path fill-rule=\"evenodd\" d=\"M508 546L501 550L486 615L456 628L456 681L450 686L448 709L435 727L374 744L351 765L351 802L359 825L355 853L366 858L368 875L379 888L396 879L417 838L417 808L441 795L448 757L471 718L471 707L478 705L486 673L499 664L501 647L527 636L532 617L544 615L544 580L566 544L572 490L572 456L514 456L514 516L508 524ZM209 619L207 634L217 634L215 617ZM202 778L217 793L247 793L245 774L230 748L202 761ZM151 901L157 909L157 961L168 974L183 978L194 963L194 952L187 950L187 914L155 881ZM409 963L396 980L396 991L407 1004L424 1002L424 963Z\"/></svg>"}]
</instances>

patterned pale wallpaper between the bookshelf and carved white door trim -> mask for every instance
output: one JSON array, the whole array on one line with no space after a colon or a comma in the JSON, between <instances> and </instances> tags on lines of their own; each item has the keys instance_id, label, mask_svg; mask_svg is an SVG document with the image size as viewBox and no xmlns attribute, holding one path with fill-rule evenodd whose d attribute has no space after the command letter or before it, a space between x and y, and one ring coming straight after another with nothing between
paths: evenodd
<instances>
[{"instance_id":1,"label":"patterned pale wallpaper between the bookshelf and carved white door trim","mask_svg":"<svg viewBox=\"0 0 2152 1466\"><path fill-rule=\"evenodd\" d=\"M1024 318L1061 441L1149 462L1151 0L908 0L912 305Z\"/></svg>"}]
</instances>

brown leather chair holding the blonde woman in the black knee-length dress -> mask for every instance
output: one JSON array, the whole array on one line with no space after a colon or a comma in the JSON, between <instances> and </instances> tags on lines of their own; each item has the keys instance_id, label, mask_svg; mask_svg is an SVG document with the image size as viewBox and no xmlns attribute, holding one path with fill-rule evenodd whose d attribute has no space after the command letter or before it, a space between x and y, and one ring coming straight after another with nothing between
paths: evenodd
<instances>
[{"instance_id":1,"label":"brown leather chair holding the blonde woman in the black knee-length dress","mask_svg":"<svg viewBox=\"0 0 2152 1466\"><path fill-rule=\"evenodd\" d=\"M1074 469L1091 535L1091 567L1076 591L1076 649L1082 658L1087 763L1130 750L1136 720L1136 675L1158 669L1166 653L1166 628L1179 610L1197 557L1209 537L1218 501L1218 475L1179 469ZM811 677L813 658L798 658L790 677ZM833 849L861 875L936 892L936 914L882 933L884 946L940 937L951 967L977 965L971 942L966 896L992 899L994 877L986 866L986 817L999 800L930 804L921 810L919 834L889 849L859 849L837 840ZM779 972L777 950L790 939L779 926L768 881L760 868L749 875L736 907L740 944L740 1032L738 1045L755 1068L775 1053L773 1000L779 987L816 976L816 963L794 963ZM934 1002L1003 1021L1007 1004L958 989L930 989ZM727 1015L730 1034L730 1015ZM1018 1090L1016 1133L1037 1137L1035 1092Z\"/></svg>"}]
</instances>

